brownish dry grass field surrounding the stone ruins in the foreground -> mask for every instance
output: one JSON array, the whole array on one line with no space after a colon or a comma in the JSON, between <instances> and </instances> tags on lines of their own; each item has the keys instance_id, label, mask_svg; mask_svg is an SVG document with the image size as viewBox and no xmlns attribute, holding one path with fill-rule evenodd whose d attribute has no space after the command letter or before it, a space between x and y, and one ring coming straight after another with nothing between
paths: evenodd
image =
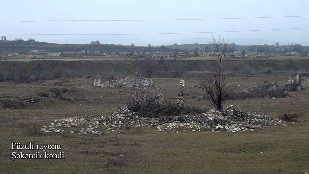
<instances>
[{"instance_id":1,"label":"brownish dry grass field surrounding the stone ruins in the foreground","mask_svg":"<svg viewBox=\"0 0 309 174\"><path fill-rule=\"evenodd\" d=\"M268 80L284 85L288 77L237 77L239 88ZM176 102L180 79L153 79L167 100ZM186 88L196 80L185 79ZM74 91L24 109L3 107L4 100L20 100L52 88ZM5 173L302 173L309 172L309 91L290 92L292 98L226 101L225 105L278 118L302 112L300 122L269 126L255 132L158 132L151 127L116 129L110 134L41 133L53 120L74 116L102 116L125 106L127 89L93 87L92 79L56 79L44 84L0 83L0 172ZM186 90L191 105L212 108L197 89ZM120 135L119 131L124 131ZM185 130L185 129L181 129ZM65 159L11 159L11 143L61 144ZM53 152L53 151L49 151ZM55 151L55 153L59 151ZM261 153L262 152L262 153ZM122 155L122 156L121 156Z\"/></svg>"}]
</instances>

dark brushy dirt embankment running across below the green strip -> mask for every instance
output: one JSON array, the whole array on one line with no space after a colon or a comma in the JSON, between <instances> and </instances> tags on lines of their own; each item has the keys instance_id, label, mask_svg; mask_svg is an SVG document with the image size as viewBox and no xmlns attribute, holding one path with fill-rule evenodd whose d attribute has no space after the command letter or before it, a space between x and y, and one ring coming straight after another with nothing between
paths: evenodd
<instances>
[{"instance_id":1,"label":"dark brushy dirt embankment running across below the green strip","mask_svg":"<svg viewBox=\"0 0 309 174\"><path fill-rule=\"evenodd\" d=\"M29 61L0 61L0 75L5 80L14 76L29 76L35 81L39 79L56 79L59 77L92 78L97 75L135 74L143 73L145 64L142 60L29 60ZM309 60L229 60L235 63L235 74L238 76L263 76L294 71L306 73ZM209 61L203 60L155 60L152 77L173 77L173 71L182 69L180 78L194 77L207 71ZM178 68L177 68L178 67ZM58 73L58 74L57 74ZM44 76L45 78L36 78ZM54 77L53 76L59 76ZM7 80L10 80L8 79ZM27 77L25 77L27 78Z\"/></svg>"}]
</instances>

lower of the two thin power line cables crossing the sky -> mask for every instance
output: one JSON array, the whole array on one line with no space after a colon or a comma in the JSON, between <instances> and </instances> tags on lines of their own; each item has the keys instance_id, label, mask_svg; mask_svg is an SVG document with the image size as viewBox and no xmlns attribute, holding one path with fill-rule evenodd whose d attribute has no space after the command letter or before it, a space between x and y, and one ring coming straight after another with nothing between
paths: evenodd
<instances>
[{"instance_id":1,"label":"lower of the two thin power line cables crossing the sky","mask_svg":"<svg viewBox=\"0 0 309 174\"><path fill-rule=\"evenodd\" d=\"M309 29L303 28L277 28L261 30L235 30L235 31L215 31L215 32L172 32L172 33L119 33L119 34L40 34L40 33L0 33L1 35L43 35L43 36L113 36L113 35L163 35L163 34L200 34L200 33L225 33L225 32L256 32L256 31L275 31L275 30L294 30Z\"/></svg>"}]
</instances>

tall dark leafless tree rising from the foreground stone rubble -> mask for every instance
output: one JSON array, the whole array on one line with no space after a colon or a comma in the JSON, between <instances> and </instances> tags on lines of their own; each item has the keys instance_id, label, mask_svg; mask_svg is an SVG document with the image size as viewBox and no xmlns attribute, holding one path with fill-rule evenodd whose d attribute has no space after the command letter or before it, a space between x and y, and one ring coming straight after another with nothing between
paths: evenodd
<instances>
[{"instance_id":1,"label":"tall dark leafless tree rising from the foreground stone rubble","mask_svg":"<svg viewBox=\"0 0 309 174\"><path fill-rule=\"evenodd\" d=\"M220 38L220 36L218 39L212 36L210 44L214 48L216 60L209 61L210 73L205 72L195 87L205 91L210 96L216 108L222 111L222 104L234 89L233 83L226 78L228 70L232 66L230 62L225 60L224 56L228 41Z\"/></svg>"}]
</instances>

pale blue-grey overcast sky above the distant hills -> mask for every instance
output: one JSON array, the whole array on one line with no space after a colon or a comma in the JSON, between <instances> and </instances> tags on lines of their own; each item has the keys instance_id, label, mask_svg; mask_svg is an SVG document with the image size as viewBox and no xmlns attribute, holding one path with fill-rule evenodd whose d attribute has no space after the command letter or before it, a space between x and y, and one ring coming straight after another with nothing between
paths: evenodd
<instances>
[{"instance_id":1,"label":"pale blue-grey overcast sky above the distant hills","mask_svg":"<svg viewBox=\"0 0 309 174\"><path fill-rule=\"evenodd\" d=\"M0 21L19 20L108 20L192 19L309 15L308 0L2 0ZM309 17L276 19L229 19L198 21L125 22L35 22L0 23L0 33L112 34L257 30L309 27ZM146 46L207 43L212 34L134 36L19 36L56 43L88 43ZM217 34L214 34L217 35ZM309 45L309 29L221 33L238 45L299 43Z\"/></svg>"}]
</instances>

